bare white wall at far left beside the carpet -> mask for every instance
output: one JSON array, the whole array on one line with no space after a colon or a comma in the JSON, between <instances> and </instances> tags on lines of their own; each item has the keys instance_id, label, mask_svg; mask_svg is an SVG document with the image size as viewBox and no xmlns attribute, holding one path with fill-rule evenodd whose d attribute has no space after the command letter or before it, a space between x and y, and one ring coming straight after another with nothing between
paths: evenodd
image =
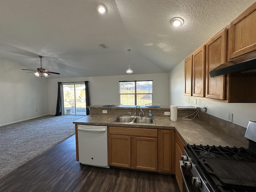
<instances>
[{"instance_id":1,"label":"bare white wall at far left beside the carpet","mask_svg":"<svg viewBox=\"0 0 256 192\"><path fill-rule=\"evenodd\" d=\"M45 78L17 62L0 59L0 67L0 126L48 114Z\"/></svg>"}]
</instances>

